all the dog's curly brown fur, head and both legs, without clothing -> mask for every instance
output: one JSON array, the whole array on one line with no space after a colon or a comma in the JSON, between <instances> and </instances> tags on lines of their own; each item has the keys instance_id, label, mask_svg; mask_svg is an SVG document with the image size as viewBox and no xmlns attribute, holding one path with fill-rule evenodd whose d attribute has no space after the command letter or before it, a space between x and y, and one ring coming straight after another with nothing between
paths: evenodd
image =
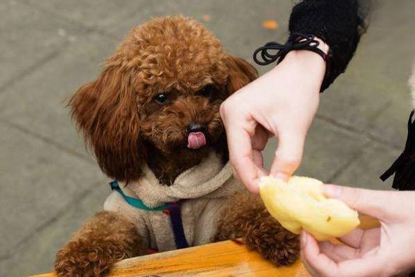
<instances>
[{"instance_id":1,"label":"all the dog's curly brown fur, head and both legs, without clothing","mask_svg":"<svg viewBox=\"0 0 415 277\"><path fill-rule=\"evenodd\" d=\"M225 53L202 24L180 16L156 18L133 28L97 80L78 89L69 105L109 177L138 181L147 163L169 185L212 150L228 160L219 107L255 78L255 68ZM203 127L207 141L198 149L186 144L192 123ZM276 265L297 258L297 236L282 229L257 198L238 195L228 203L217 240L242 237ZM102 212L59 251L55 268L59 276L101 276L140 249L131 222Z\"/></svg>"}]
</instances>

